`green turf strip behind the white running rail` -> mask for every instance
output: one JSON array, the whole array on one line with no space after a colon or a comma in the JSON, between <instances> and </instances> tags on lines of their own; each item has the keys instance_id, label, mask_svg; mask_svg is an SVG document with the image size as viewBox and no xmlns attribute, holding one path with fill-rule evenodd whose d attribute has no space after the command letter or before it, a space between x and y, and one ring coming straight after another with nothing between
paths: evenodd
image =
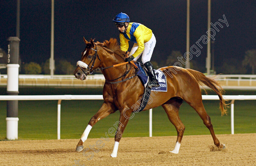
<instances>
[{"instance_id":1,"label":"green turf strip behind the white running rail","mask_svg":"<svg viewBox=\"0 0 256 166\"><path fill-rule=\"evenodd\" d=\"M0 88L3 94L6 88ZM102 94L102 89L86 88L20 88L20 95L45 94ZM231 94L255 94L255 91L229 90ZM61 139L80 138L91 117L98 111L103 100L72 100L61 103ZM255 133L255 101L235 101L235 133ZM230 108L228 115L221 116L218 101L204 101L216 134L230 134ZM187 103L180 108L180 118L186 129L184 135L210 134L200 117ZM57 101L19 101L19 140L57 139ZM105 137L105 132L119 120L119 111L94 125L88 138ZM6 137L6 101L0 101L0 139ZM136 113L129 120L123 137L148 136L148 111ZM153 136L176 136L176 129L169 122L162 107L153 109ZM108 134L109 136L109 134ZM113 137L113 136L110 136Z\"/></svg>"}]
</instances>

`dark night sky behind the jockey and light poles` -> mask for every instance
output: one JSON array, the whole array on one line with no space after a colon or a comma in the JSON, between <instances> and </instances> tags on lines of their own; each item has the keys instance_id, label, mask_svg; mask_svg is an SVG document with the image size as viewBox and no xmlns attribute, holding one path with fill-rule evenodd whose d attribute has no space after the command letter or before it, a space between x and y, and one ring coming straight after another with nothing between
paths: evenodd
<instances>
[{"instance_id":1,"label":"dark night sky behind the jockey and light poles","mask_svg":"<svg viewBox=\"0 0 256 166\"><path fill-rule=\"evenodd\" d=\"M190 47L207 35L207 0L190 1ZM215 67L223 62L241 66L245 51L256 49L256 1L212 0L211 22L226 16L229 26L216 31ZM119 41L119 32L112 22L119 12L128 14L131 22L142 23L155 34L157 43L152 61L165 65L171 51L186 52L187 1L77 1L55 0L54 58L72 64L80 60L83 37L95 41ZM7 50L7 38L16 36L16 0L0 2L0 47ZM219 22L219 21L218 21ZM51 1L20 0L20 57L22 62L45 62L50 58ZM130 43L130 46L133 44ZM205 72L207 45L193 61ZM178 59L177 59L178 62ZM173 65L173 64L170 64ZM185 67L185 66L183 66Z\"/></svg>"}]
</instances>

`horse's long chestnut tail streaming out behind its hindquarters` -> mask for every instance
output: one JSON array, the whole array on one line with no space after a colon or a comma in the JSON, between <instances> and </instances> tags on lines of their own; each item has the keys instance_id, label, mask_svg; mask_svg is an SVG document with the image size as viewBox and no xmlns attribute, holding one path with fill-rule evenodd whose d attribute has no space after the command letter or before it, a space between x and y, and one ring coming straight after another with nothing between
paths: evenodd
<instances>
[{"instance_id":1,"label":"horse's long chestnut tail streaming out behind its hindquarters","mask_svg":"<svg viewBox=\"0 0 256 166\"><path fill-rule=\"evenodd\" d=\"M222 93L223 93L223 89L221 87L221 85L219 84L219 82L214 78L214 77L207 77L205 76L203 73L192 70L192 69L187 69L187 71L189 71L197 80L199 85L202 85L202 83L204 85L206 85L207 87L211 88L212 90L215 91L215 93L219 96L219 108L221 110L221 115L223 116L224 114L227 114L227 104L225 99L223 99L222 97ZM204 89L205 91L205 89ZM206 92L206 91L205 91ZM207 92L206 92L207 94Z\"/></svg>"}]
</instances>

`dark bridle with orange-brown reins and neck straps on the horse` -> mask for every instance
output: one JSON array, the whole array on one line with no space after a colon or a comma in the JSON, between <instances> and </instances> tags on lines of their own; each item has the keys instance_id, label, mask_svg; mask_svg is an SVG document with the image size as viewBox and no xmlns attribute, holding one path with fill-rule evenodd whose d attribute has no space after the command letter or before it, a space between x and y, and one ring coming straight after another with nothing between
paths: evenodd
<instances>
[{"instance_id":1,"label":"dark bridle with orange-brown reins and neck straps on the horse","mask_svg":"<svg viewBox=\"0 0 256 166\"><path fill-rule=\"evenodd\" d=\"M131 70L131 64L130 64L130 69L128 70L127 63L129 63L129 62L124 62L124 63L120 63L120 64L117 64L117 65L112 65L112 66L108 66L108 67L101 67L101 68L99 68L99 69L92 69L93 66L94 66L94 63L95 63L96 58L98 57L98 59L100 60L100 65L101 65L101 59L99 58L99 55L98 55L98 53L97 53L97 46L96 46L96 45L95 45L95 49L94 49L94 48L91 48L91 47L90 47L90 49L93 50L93 51L95 51L95 53L94 53L94 55L93 55L93 57L92 57L92 59L91 59L91 62L89 63L89 65L88 65L88 67L87 67L87 69L88 69L88 71L89 71L89 74L92 74L93 72L96 72L96 71L99 71L99 70L104 70L104 69L108 69L108 68L111 68L111 67L116 67L116 66L119 66L119 65L124 65L124 64L126 64L126 72L125 72L122 76L120 76L120 77L117 78L117 79L122 78L121 81L110 82L110 81L115 81L115 80L117 80L117 79L112 79L112 80L107 80L107 79L105 79L105 81L106 81L107 83L115 84L115 83L124 82L124 81L126 81L126 80L128 80L128 79L132 79L133 77L137 76L137 75L135 74L134 76L131 76L131 77L126 78L126 79L123 79L123 78L130 72L130 70ZM92 65L91 65L91 63L92 63ZM134 65L133 62L131 62L131 63ZM90 65L91 65L91 67L89 67ZM78 66L79 66L80 69L84 72L83 67L81 67L80 65L78 65ZM134 65L134 66L135 66L135 68L137 68L136 65ZM84 74L87 76L86 72L84 72Z\"/></svg>"}]
</instances>

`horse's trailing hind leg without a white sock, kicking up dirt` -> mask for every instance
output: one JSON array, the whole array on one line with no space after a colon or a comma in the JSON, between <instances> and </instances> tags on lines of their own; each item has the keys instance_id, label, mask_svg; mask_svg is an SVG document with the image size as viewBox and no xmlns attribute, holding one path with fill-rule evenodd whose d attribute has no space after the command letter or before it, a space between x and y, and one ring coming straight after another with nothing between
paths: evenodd
<instances>
[{"instance_id":1,"label":"horse's trailing hind leg without a white sock, kicking up dirt","mask_svg":"<svg viewBox=\"0 0 256 166\"><path fill-rule=\"evenodd\" d=\"M200 95L201 96L201 95ZM192 100L191 100L192 101ZM204 105L202 102L202 98L198 98L193 100L193 102L187 102L191 107L194 108L194 110L197 112L197 114L200 116L200 118L203 120L204 125L210 130L211 135L212 135L212 139L214 141L214 144L222 149L225 149L225 145L224 144L220 144L219 140L217 139L217 137L215 136L213 127L212 127L212 123L211 123L211 118L210 116L206 113L205 109L204 109Z\"/></svg>"}]
</instances>

